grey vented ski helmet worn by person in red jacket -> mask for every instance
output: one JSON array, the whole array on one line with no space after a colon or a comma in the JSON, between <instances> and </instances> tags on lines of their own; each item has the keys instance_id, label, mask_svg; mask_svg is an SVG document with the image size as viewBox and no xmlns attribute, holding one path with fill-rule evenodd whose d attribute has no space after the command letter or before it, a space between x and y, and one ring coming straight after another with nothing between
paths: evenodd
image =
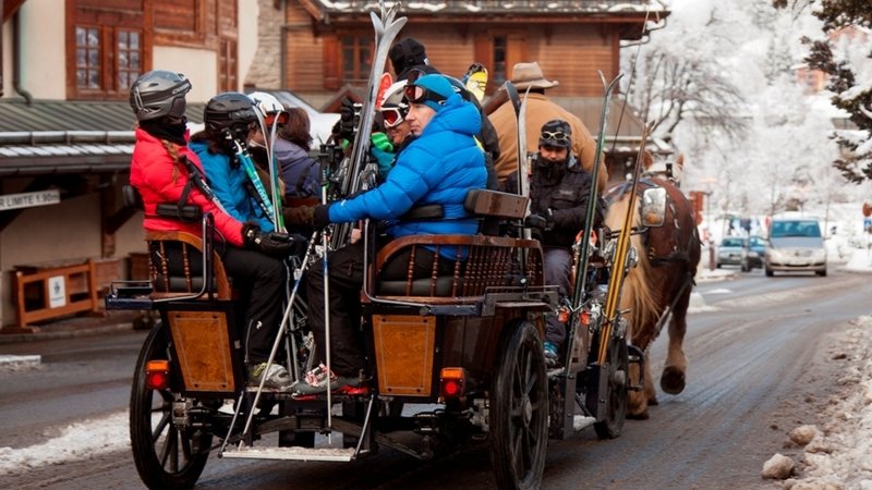
<instances>
[{"instance_id":1,"label":"grey vented ski helmet worn by person in red jacket","mask_svg":"<svg viewBox=\"0 0 872 490\"><path fill-rule=\"evenodd\" d=\"M150 121L165 115L184 115L184 96L191 82L181 73L153 70L136 78L130 87L130 107L138 121Z\"/></svg>"}]
</instances>

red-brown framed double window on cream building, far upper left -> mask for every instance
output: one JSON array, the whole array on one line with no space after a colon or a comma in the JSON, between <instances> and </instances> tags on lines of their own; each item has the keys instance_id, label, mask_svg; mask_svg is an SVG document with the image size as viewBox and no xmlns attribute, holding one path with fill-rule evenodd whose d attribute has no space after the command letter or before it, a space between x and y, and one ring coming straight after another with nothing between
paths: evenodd
<instances>
[{"instance_id":1,"label":"red-brown framed double window on cream building, far upper left","mask_svg":"<svg viewBox=\"0 0 872 490\"><path fill-rule=\"evenodd\" d=\"M75 88L78 96L126 97L142 73L142 33L75 26Z\"/></svg>"}]
</instances>

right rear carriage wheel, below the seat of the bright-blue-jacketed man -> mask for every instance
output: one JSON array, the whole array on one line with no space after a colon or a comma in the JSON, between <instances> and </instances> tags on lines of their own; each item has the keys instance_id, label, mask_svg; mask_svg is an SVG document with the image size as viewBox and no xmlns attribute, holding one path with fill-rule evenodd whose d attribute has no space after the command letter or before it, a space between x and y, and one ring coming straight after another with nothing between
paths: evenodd
<instances>
[{"instance_id":1,"label":"right rear carriage wheel, below the seat of the bright-blue-jacketed man","mask_svg":"<svg viewBox=\"0 0 872 490\"><path fill-rule=\"evenodd\" d=\"M491 392L491 461L499 488L540 488L548 444L548 380L530 321L504 330Z\"/></svg>"}]
</instances>

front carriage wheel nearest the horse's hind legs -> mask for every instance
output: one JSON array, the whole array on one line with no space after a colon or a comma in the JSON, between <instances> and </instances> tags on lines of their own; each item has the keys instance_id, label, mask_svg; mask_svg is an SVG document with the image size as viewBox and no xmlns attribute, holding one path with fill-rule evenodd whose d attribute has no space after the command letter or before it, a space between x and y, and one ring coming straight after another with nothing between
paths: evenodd
<instances>
[{"instance_id":1,"label":"front carriage wheel nearest the horse's hind legs","mask_svg":"<svg viewBox=\"0 0 872 490\"><path fill-rule=\"evenodd\" d=\"M600 387L600 397L606 400L606 418L593 425L600 439L615 439L623 429L629 403L630 357L627 341L611 339L608 346L607 381Z\"/></svg>"}]
</instances>

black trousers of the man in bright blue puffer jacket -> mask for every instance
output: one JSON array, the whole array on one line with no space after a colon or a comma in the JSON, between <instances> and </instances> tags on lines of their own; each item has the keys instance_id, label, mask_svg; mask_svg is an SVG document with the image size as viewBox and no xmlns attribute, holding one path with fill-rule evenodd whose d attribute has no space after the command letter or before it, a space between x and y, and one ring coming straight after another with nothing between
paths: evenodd
<instances>
[{"instance_id":1,"label":"black trousers of the man in bright blue puffer jacket","mask_svg":"<svg viewBox=\"0 0 872 490\"><path fill-rule=\"evenodd\" d=\"M379 237L376 249L390 238ZM396 256L380 271L380 277L404 279L410 252ZM428 278L433 273L433 252L417 248L415 252L415 278ZM439 258L439 273L451 274L453 262ZM363 241L344 246L327 256L330 278L330 368L337 376L358 376L364 368L363 335L361 332L361 289L363 287ZM306 278L308 294L308 326L315 335L315 363L326 362L324 345L324 264L318 260L308 269Z\"/></svg>"}]
</instances>

